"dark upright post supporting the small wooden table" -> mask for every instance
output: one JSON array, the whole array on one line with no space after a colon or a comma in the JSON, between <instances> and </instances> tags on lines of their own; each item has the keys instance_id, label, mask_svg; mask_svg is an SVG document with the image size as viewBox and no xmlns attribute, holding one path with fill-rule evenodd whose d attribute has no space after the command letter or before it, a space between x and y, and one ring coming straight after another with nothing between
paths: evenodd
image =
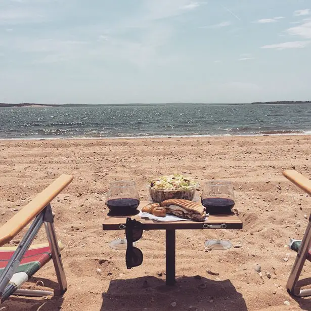
<instances>
[{"instance_id":1,"label":"dark upright post supporting the small wooden table","mask_svg":"<svg viewBox=\"0 0 311 311\"><path fill-rule=\"evenodd\" d=\"M175 230L165 230L166 234L166 285L175 284Z\"/></svg>"}]
</instances>

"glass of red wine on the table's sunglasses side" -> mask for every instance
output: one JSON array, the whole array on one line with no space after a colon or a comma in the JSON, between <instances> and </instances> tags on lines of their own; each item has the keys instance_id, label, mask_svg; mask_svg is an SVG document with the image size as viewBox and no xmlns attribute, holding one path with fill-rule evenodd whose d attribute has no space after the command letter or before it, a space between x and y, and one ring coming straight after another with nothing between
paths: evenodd
<instances>
[{"instance_id":1,"label":"glass of red wine on the table's sunglasses side","mask_svg":"<svg viewBox=\"0 0 311 311\"><path fill-rule=\"evenodd\" d=\"M110 184L106 197L106 205L111 215L135 215L137 214L139 203L139 193L134 181L116 181ZM109 246L117 250L126 250L126 238L113 240L109 243Z\"/></svg>"}]
</instances>

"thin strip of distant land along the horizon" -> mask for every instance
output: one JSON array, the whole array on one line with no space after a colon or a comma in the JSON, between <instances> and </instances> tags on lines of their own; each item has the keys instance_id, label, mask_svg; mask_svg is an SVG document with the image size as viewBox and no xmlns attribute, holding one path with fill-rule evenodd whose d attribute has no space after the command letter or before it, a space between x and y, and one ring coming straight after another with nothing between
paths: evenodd
<instances>
[{"instance_id":1,"label":"thin strip of distant land along the horizon","mask_svg":"<svg viewBox=\"0 0 311 311\"><path fill-rule=\"evenodd\" d=\"M128 104L36 104L36 103L20 103L7 104L0 103L0 108L12 107L103 107L103 106L146 106L146 105L295 105L295 104L311 104L311 101L278 101L278 102L253 102L253 103L235 103L235 104L213 104L213 103L158 103L158 104L144 104L144 103L128 103Z\"/></svg>"}]
</instances>

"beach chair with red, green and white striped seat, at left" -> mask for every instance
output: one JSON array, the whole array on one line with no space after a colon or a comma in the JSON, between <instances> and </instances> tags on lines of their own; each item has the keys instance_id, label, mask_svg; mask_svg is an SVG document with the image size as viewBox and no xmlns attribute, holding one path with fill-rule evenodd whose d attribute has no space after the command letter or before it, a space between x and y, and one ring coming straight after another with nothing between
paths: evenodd
<instances>
[{"instance_id":1,"label":"beach chair with red, green and white striped seat, at left","mask_svg":"<svg viewBox=\"0 0 311 311\"><path fill-rule=\"evenodd\" d=\"M72 180L73 176L71 175L61 175L0 227L0 305L11 295L41 297L65 293L67 281L60 254L63 245L56 238L51 201ZM3 247L32 219L32 224L17 247ZM49 243L31 246L43 224ZM28 281L50 259L54 263L59 291L54 293L52 291L21 289L23 283Z\"/></svg>"}]
</instances>

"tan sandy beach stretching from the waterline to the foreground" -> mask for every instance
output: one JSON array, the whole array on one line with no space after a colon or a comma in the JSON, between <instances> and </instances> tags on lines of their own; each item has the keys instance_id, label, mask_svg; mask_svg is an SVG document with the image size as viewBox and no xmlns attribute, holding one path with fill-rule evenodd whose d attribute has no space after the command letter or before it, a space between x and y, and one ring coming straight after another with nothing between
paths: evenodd
<instances>
[{"instance_id":1,"label":"tan sandy beach stretching from the waterline to the foreground","mask_svg":"<svg viewBox=\"0 0 311 311\"><path fill-rule=\"evenodd\" d=\"M57 234L66 246L68 291L63 298L12 298L4 305L7 310L41 311L311 310L310 300L293 299L286 291L295 253L284 248L289 237L302 237L310 200L282 176L292 166L311 176L310 150L309 136L0 141L0 224L61 173L74 175L53 202ZM164 285L163 231L144 232L138 243L144 262L127 270L124 251L108 246L124 232L102 231L102 220L111 181L134 179L147 200L148 179L172 172L191 174L201 185L212 178L231 180L244 228L177 231L178 280L171 288ZM204 249L204 241L218 235L242 247ZM42 241L43 231L36 238ZM263 278L254 270L256 263ZM303 275L310 273L306 264ZM27 285L34 288L38 279L55 287L52 262Z\"/></svg>"}]
</instances>

